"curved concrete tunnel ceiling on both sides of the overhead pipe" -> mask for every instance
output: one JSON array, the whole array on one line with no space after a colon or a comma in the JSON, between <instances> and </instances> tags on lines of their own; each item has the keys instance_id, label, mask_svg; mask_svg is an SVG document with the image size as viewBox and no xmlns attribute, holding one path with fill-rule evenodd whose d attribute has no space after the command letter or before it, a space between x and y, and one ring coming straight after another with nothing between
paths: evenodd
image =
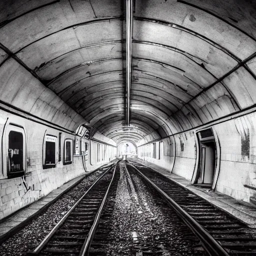
<instances>
[{"instance_id":1,"label":"curved concrete tunnel ceiling on both sides of the overhead pipe","mask_svg":"<svg viewBox=\"0 0 256 256\"><path fill-rule=\"evenodd\" d=\"M10 61L23 66L84 118L91 135L117 144L255 105L253 1L135 0L126 127L123 8L120 0L2 0L0 73ZM9 79L22 70L13 67Z\"/></svg>"}]
</instances>

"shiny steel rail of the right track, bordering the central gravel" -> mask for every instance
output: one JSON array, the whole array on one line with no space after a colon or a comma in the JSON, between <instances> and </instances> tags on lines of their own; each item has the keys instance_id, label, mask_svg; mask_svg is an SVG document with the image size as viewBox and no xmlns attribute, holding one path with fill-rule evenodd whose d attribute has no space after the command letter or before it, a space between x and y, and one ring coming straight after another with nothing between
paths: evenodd
<instances>
[{"instance_id":1,"label":"shiny steel rail of the right track, bordering the central gravel","mask_svg":"<svg viewBox=\"0 0 256 256\"><path fill-rule=\"evenodd\" d=\"M128 162L130 166L137 170L139 175L143 177L152 187L154 187L160 195L167 201L168 205L174 209L177 215L185 222L192 232L199 238L203 248L210 256L229 256L229 254L221 247L221 245L186 211L184 211L174 200L172 200L163 190L155 185L148 177L140 172L133 164Z\"/></svg>"}]
</instances>

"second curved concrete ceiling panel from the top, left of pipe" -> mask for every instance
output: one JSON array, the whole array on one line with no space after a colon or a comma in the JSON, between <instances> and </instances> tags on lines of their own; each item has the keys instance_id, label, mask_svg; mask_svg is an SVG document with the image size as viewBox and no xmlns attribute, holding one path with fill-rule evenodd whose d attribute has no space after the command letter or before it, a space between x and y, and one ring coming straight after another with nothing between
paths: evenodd
<instances>
[{"instance_id":1,"label":"second curved concrete ceiling panel from the top, left of pipe","mask_svg":"<svg viewBox=\"0 0 256 256\"><path fill-rule=\"evenodd\" d=\"M109 43L111 41L120 40L121 24L122 23L120 20L111 20L110 22L108 20L104 20L101 22L64 29L30 44L29 46L18 52L17 56L29 68L37 71L38 69L41 69L44 65L47 65L49 61L52 61L59 56L61 56L62 59L63 54L72 52L80 48L82 49L86 46L88 47L89 45L97 44L96 46L98 46L99 48L90 47L90 50L92 50L92 52L88 52L88 50L86 51L86 48L85 52L81 51L81 57L83 58L83 56L85 56L85 58L80 63L86 62L86 58L88 62L92 60L102 59L104 58L104 52L106 52L105 54L109 54L109 49L106 48L101 51L101 44L103 44L104 42ZM94 31L99 31L97 36L94 35ZM113 46L111 46L111 48L113 48ZM100 54L100 52L103 56ZM95 59L93 53L96 53Z\"/></svg>"}]
</instances>

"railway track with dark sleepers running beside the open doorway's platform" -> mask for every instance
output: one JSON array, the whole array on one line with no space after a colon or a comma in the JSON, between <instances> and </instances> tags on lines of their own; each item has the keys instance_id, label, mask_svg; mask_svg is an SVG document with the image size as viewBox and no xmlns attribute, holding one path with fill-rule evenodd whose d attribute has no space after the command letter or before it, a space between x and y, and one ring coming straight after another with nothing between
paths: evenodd
<instances>
[{"instance_id":1,"label":"railway track with dark sleepers running beside the open doorway's platform","mask_svg":"<svg viewBox=\"0 0 256 256\"><path fill-rule=\"evenodd\" d=\"M209 255L256 255L256 240L244 223L145 165L127 161L127 168L158 191Z\"/></svg>"}]
</instances>

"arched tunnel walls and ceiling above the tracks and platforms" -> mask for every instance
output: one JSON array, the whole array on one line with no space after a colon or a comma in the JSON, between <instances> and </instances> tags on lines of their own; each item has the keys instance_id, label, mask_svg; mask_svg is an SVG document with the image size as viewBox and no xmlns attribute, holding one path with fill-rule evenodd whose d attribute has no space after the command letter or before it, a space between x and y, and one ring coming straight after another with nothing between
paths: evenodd
<instances>
[{"instance_id":1,"label":"arched tunnel walls and ceiling above the tracks and platforms","mask_svg":"<svg viewBox=\"0 0 256 256\"><path fill-rule=\"evenodd\" d=\"M255 203L255 13L254 0L1 0L0 219L127 153Z\"/></svg>"}]
</instances>

